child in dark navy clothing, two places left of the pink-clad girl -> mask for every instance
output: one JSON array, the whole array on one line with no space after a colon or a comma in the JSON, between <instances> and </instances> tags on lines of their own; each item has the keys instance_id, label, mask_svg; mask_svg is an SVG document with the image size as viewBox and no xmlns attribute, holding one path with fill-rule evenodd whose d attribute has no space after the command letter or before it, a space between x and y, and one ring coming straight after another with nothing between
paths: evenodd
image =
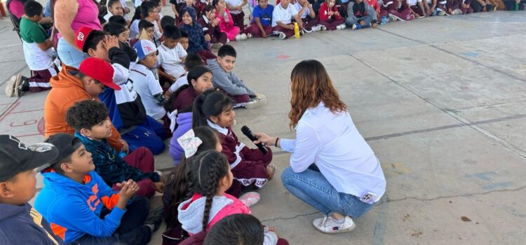
<instances>
[{"instance_id":1,"label":"child in dark navy clothing, two places left of the pink-clad girl","mask_svg":"<svg viewBox=\"0 0 526 245\"><path fill-rule=\"evenodd\" d=\"M181 29L189 36L187 51L197 53L204 61L217 58L213 52L210 52L208 42L205 40L205 36L203 36L203 27L197 22L194 8L184 7L180 12L180 16L182 17L183 23Z\"/></svg>"}]
</instances>

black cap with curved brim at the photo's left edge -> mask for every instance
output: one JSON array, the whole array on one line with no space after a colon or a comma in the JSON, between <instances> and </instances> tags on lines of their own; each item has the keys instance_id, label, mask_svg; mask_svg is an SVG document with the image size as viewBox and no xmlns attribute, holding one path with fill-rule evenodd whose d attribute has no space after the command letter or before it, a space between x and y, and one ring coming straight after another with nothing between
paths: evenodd
<instances>
[{"instance_id":1,"label":"black cap with curved brim at the photo's left edge","mask_svg":"<svg viewBox=\"0 0 526 245\"><path fill-rule=\"evenodd\" d=\"M38 172L52 165L57 158L57 148L52 144L26 146L12 135L0 135L0 181L31 169Z\"/></svg>"}]
</instances>

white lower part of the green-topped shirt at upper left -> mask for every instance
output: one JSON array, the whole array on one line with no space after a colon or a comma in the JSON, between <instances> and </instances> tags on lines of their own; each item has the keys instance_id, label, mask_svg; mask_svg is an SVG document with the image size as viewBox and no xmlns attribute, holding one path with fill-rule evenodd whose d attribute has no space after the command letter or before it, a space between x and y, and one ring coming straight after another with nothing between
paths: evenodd
<instances>
[{"instance_id":1,"label":"white lower part of the green-topped shirt at upper left","mask_svg":"<svg viewBox=\"0 0 526 245\"><path fill-rule=\"evenodd\" d=\"M55 53L53 48L44 51L36 43L27 43L23 40L22 43L25 62L30 70L41 71L53 66L53 54Z\"/></svg>"}]
</instances>

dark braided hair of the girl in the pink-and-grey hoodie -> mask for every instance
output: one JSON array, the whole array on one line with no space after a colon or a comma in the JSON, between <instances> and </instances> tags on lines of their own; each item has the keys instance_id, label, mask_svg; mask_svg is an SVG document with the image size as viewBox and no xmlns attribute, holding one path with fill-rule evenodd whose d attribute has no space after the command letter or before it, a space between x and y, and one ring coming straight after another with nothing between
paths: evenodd
<instances>
[{"instance_id":1,"label":"dark braided hair of the girl in the pink-and-grey hoodie","mask_svg":"<svg viewBox=\"0 0 526 245\"><path fill-rule=\"evenodd\" d=\"M193 192L206 198L203 212L203 231L206 231L213 198L217 193L220 179L228 174L229 164L222 153L209 150L197 155L190 168Z\"/></svg>"}]
</instances>

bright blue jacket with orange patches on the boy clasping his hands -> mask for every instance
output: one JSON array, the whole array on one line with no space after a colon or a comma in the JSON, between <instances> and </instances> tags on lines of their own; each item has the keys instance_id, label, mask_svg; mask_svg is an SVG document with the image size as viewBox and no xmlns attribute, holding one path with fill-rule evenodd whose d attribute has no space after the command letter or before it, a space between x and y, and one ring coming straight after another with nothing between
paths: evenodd
<instances>
[{"instance_id":1,"label":"bright blue jacket with orange patches on the boy clasping his hands","mask_svg":"<svg viewBox=\"0 0 526 245\"><path fill-rule=\"evenodd\" d=\"M44 188L34 207L53 223L53 232L66 243L76 241L86 233L95 237L109 237L119 225L126 209L115 207L119 194L115 193L94 171L84 176L80 184L55 172L43 174ZM102 207L111 212L100 218Z\"/></svg>"}]
</instances>

